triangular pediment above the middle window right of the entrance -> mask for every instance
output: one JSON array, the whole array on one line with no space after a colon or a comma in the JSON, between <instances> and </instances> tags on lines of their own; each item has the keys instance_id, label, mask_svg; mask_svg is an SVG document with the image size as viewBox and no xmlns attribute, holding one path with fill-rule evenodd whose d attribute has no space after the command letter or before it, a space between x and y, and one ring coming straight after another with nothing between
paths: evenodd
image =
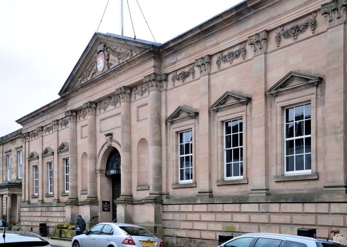
<instances>
[{"instance_id":1,"label":"triangular pediment above the middle window right of the entrance","mask_svg":"<svg viewBox=\"0 0 347 247\"><path fill-rule=\"evenodd\" d=\"M247 104L249 100L250 98L246 95L233 91L226 91L211 105L210 108L213 111L218 111L223 108L230 108L239 104Z\"/></svg>"}]
</instances>

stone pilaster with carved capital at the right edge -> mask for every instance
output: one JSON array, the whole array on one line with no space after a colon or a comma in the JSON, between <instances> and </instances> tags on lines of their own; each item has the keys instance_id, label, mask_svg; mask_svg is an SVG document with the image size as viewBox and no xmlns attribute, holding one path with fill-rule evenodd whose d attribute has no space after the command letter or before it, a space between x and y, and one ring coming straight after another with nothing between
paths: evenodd
<instances>
[{"instance_id":1,"label":"stone pilaster with carved capital at the right edge","mask_svg":"<svg viewBox=\"0 0 347 247\"><path fill-rule=\"evenodd\" d=\"M325 87L325 162L323 192L346 194L346 3L322 5L327 18L327 75Z\"/></svg>"}]
</instances>

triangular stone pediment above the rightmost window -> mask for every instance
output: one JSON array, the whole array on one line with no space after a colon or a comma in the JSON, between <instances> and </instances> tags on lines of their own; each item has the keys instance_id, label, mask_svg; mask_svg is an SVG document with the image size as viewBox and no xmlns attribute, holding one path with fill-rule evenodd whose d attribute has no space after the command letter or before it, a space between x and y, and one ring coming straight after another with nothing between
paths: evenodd
<instances>
[{"instance_id":1,"label":"triangular stone pediment above the rightmost window","mask_svg":"<svg viewBox=\"0 0 347 247\"><path fill-rule=\"evenodd\" d=\"M318 76L312 76L303 74L300 72L291 71L280 81L275 83L269 90L268 94L277 95L279 93L285 93L289 90L300 90L307 86L315 86L322 82L323 78Z\"/></svg>"}]
</instances>

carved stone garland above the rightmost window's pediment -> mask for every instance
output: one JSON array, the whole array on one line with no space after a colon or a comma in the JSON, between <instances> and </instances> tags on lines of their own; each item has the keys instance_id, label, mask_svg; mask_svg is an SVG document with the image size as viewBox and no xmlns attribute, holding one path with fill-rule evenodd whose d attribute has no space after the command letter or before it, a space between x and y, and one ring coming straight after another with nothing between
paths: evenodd
<instances>
[{"instance_id":1,"label":"carved stone garland above the rightmost window's pediment","mask_svg":"<svg viewBox=\"0 0 347 247\"><path fill-rule=\"evenodd\" d=\"M278 27L276 30L277 34L275 36L277 47L280 46L282 37L285 39L293 38L293 40L296 40L297 36L304 33L308 27L311 28L311 32L312 34L314 34L314 31L317 28L316 16L317 16L316 12L313 12L312 14L308 16L306 21L304 21L301 24L293 25L291 28L286 30L283 30L283 26Z\"/></svg>"}]
</instances>

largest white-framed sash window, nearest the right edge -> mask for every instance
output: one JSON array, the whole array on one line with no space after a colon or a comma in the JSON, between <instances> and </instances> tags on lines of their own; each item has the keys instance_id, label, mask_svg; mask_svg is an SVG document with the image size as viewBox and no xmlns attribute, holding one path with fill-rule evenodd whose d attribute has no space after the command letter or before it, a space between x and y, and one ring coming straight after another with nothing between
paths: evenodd
<instances>
[{"instance_id":1,"label":"largest white-framed sash window, nearest the right edge","mask_svg":"<svg viewBox=\"0 0 347 247\"><path fill-rule=\"evenodd\" d=\"M311 104L285 109L285 174L311 172Z\"/></svg>"}]
</instances>

